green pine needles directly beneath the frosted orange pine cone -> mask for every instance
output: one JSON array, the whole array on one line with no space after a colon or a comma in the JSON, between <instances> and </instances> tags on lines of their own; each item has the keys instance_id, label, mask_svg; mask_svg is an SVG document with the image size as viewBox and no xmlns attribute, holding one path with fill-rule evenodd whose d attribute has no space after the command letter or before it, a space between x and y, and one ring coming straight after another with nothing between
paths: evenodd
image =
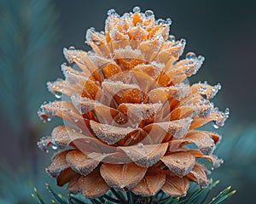
<instances>
[{"instance_id":1,"label":"green pine needles directly beneath the frosted orange pine cone","mask_svg":"<svg viewBox=\"0 0 256 204\"><path fill-rule=\"evenodd\" d=\"M56 195L55 192L47 185L47 189L49 193L52 195L55 203L58 204L98 204L98 203L144 203L144 204L156 204L156 203L165 203L165 204L220 204L224 203L230 199L232 195L236 193L236 190L231 191L230 186L221 191L217 196L212 198L212 201L206 203L206 200L209 199L209 193L212 188L214 188L218 184L218 181L212 182L206 188L197 188L196 190L190 190L188 195L182 198L175 198L165 195L163 191L160 190L156 195L143 197L134 195L130 190L127 191L126 198L123 195L122 191L119 190L109 190L106 195L102 195L96 199L89 199L86 197L79 198L79 195L67 195L67 197L63 197L62 195ZM113 193L114 192L114 193ZM41 196L38 194L38 191L35 190L35 194L32 195L35 201L39 204L43 204ZM41 202L40 202L41 201Z\"/></svg>"}]
</instances>

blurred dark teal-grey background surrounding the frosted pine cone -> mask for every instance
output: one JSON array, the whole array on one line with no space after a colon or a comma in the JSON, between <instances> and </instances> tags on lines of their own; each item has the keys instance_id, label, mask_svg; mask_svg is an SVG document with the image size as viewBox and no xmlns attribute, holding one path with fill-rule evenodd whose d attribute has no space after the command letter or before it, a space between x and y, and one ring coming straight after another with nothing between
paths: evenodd
<instances>
[{"instance_id":1,"label":"blurred dark teal-grey background surrounding the frosted pine cone","mask_svg":"<svg viewBox=\"0 0 256 204\"><path fill-rule=\"evenodd\" d=\"M236 195L227 203L252 203L256 188L256 1L0 1L0 203L33 203L37 186L54 184L44 172L52 152L36 146L61 120L43 123L38 107L55 97L46 82L61 75L62 48L84 44L85 30L104 29L109 8L119 14L140 6L156 18L172 18L171 33L185 38L184 53L202 54L206 61L189 82L221 82L213 100L230 118L216 132L223 135L217 154L224 165L212 173L216 188L232 185ZM208 126L207 128L212 128ZM57 188L57 187L56 187ZM58 189L59 190L59 189ZM45 195L47 196L47 195Z\"/></svg>"}]
</instances>

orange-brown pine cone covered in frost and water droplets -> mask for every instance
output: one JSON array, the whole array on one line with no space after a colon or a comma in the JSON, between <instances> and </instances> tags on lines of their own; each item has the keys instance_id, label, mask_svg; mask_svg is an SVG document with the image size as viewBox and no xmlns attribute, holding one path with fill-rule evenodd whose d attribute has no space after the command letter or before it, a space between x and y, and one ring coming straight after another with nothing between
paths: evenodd
<instances>
[{"instance_id":1,"label":"orange-brown pine cone covered in frost and water droplets","mask_svg":"<svg viewBox=\"0 0 256 204\"><path fill-rule=\"evenodd\" d=\"M38 111L44 121L60 116L66 122L38 142L60 150L47 168L58 185L97 197L110 188L183 196L189 181L207 184L209 171L197 160L220 165L212 155L219 136L196 128L211 121L221 127L229 113L209 101L219 84L185 83L204 58L189 53L178 60L185 41L169 36L170 25L150 10L120 17L111 9L105 32L86 32L92 51L64 48L71 65L61 66L66 79L48 88L67 100Z\"/></svg>"}]
</instances>

